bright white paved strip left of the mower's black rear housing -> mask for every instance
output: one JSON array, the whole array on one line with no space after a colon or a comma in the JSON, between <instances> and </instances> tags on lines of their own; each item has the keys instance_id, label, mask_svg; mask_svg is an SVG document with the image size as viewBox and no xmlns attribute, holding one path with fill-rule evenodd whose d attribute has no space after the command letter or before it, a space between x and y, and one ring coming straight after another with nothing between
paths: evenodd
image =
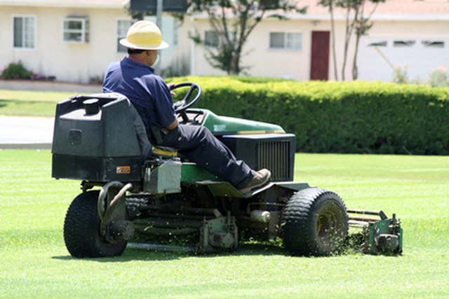
<instances>
[{"instance_id":1,"label":"bright white paved strip left of the mower's black rear housing","mask_svg":"<svg viewBox=\"0 0 449 299\"><path fill-rule=\"evenodd\" d=\"M54 118L0 116L0 148L51 148Z\"/></svg>"}]
</instances>

